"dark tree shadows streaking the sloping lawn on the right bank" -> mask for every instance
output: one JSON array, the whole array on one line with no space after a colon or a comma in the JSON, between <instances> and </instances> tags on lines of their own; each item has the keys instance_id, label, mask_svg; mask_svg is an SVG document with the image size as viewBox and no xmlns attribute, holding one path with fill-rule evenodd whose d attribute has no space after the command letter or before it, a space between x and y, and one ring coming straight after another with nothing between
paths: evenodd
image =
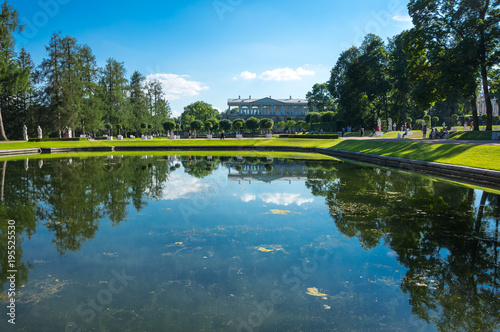
<instances>
[{"instance_id":1,"label":"dark tree shadows streaking the sloping lawn on the right bank","mask_svg":"<svg viewBox=\"0 0 500 332\"><path fill-rule=\"evenodd\" d=\"M467 144L429 144L417 142L342 141L331 149L376 155L434 161L454 158L477 146Z\"/></svg>"}]
</instances>

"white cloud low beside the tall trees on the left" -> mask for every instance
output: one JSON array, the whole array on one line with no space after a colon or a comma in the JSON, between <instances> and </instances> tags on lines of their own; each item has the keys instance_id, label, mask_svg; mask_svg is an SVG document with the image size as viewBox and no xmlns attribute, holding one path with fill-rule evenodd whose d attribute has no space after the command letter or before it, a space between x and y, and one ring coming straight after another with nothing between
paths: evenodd
<instances>
[{"instance_id":1,"label":"white cloud low beside the tall trees on the left","mask_svg":"<svg viewBox=\"0 0 500 332\"><path fill-rule=\"evenodd\" d=\"M160 81L167 100L197 96L200 94L200 91L209 89L204 83L191 81L188 79L189 77L189 75L158 73L148 75L146 79L148 81Z\"/></svg>"}]
</instances>

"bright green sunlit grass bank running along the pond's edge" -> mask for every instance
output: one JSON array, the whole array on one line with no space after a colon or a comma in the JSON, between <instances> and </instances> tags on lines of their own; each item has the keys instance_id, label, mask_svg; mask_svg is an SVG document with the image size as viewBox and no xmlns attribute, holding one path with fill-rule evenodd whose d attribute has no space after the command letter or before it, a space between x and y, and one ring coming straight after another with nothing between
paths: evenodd
<instances>
[{"instance_id":1,"label":"bright green sunlit grass bank running along the pond's edge","mask_svg":"<svg viewBox=\"0 0 500 332\"><path fill-rule=\"evenodd\" d=\"M468 144L429 144L417 140L315 140L315 139L243 139L243 140L152 140L1 143L0 149L27 149L87 146L299 146L322 147L375 155L433 161L500 171L500 147Z\"/></svg>"}]
</instances>

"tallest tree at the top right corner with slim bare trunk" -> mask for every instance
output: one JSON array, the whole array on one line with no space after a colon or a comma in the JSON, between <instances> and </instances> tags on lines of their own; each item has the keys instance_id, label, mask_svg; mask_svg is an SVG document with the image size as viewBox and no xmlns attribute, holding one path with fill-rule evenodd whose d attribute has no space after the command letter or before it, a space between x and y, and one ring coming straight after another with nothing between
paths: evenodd
<instances>
[{"instance_id":1,"label":"tallest tree at the top right corner with slim bare trunk","mask_svg":"<svg viewBox=\"0 0 500 332\"><path fill-rule=\"evenodd\" d=\"M498 1L411 0L409 14L415 28L425 36L429 49L467 45L472 68L479 69L486 102L486 130L492 129L488 73L499 61L500 11ZM474 59L476 59L474 63ZM468 76L468 75L467 75ZM471 78L475 81L475 77ZM473 86L475 84L471 83ZM477 86L477 85L476 85ZM470 91L470 89L469 89Z\"/></svg>"}]
</instances>

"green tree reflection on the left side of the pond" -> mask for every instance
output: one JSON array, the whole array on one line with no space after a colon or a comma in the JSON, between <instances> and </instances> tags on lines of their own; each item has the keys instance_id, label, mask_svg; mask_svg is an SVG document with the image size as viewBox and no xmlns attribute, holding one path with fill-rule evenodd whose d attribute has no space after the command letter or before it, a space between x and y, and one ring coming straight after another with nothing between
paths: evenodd
<instances>
[{"instance_id":1,"label":"green tree reflection on the left side of the pond","mask_svg":"<svg viewBox=\"0 0 500 332\"><path fill-rule=\"evenodd\" d=\"M31 267L21 259L23 235L31 239L42 224L53 233L61 255L78 250L95 237L101 219L118 225L129 204L140 211L147 199L161 198L169 173L176 169L166 160L141 158L49 159L43 167L28 170L23 165L3 162L0 195L0 257L7 257L6 221L15 220L18 285L26 282ZM6 280L7 270L2 259L0 280Z\"/></svg>"}]
</instances>

